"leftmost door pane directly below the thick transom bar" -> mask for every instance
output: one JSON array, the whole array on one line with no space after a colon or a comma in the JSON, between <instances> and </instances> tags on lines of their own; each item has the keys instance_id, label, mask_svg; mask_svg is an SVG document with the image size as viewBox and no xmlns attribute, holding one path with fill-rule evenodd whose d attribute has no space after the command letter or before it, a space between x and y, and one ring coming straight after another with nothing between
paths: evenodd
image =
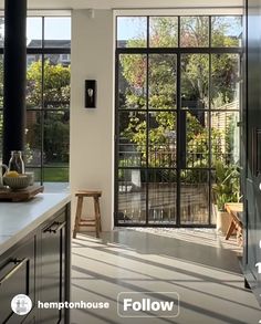
<instances>
[{"instance_id":1,"label":"leftmost door pane directly below the thick transom bar","mask_svg":"<svg viewBox=\"0 0 261 324\"><path fill-rule=\"evenodd\" d=\"M118 107L121 109L146 108L146 55L119 56Z\"/></svg>"}]
</instances>

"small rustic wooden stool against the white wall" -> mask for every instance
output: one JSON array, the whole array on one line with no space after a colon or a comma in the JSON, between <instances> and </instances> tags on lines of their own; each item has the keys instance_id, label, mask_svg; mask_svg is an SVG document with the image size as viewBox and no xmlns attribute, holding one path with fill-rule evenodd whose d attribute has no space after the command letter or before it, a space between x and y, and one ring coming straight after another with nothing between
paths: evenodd
<instances>
[{"instance_id":1,"label":"small rustic wooden stool against the white wall","mask_svg":"<svg viewBox=\"0 0 261 324\"><path fill-rule=\"evenodd\" d=\"M77 206L76 206L73 238L74 239L76 238L76 233L79 232L81 226L95 227L96 238L100 238L100 232L102 231L102 223L101 223L101 211L100 211L98 198L102 196L102 191L80 190L75 194L75 196L77 197ZM93 198L94 218L92 219L86 219L86 218L82 219L84 197Z\"/></svg>"}]
</instances>

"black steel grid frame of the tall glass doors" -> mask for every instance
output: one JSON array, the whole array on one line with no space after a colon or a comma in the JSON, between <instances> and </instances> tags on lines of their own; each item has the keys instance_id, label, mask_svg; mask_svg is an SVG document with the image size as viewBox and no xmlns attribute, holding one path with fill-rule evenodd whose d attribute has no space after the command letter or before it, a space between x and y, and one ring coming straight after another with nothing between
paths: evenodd
<instances>
[{"instance_id":1,"label":"black steel grid frame of the tall glass doors","mask_svg":"<svg viewBox=\"0 0 261 324\"><path fill-rule=\"evenodd\" d=\"M209 19L209 31L208 31L208 38L209 38L209 45L206 48L180 48L180 17L186 15L178 15L178 48L149 48L149 18L153 15L143 15L147 18L147 46L146 48L117 48L117 40L115 39L115 135L114 135L114 223L116 227L168 227L168 228L213 228L215 224L211 223L211 174L215 170L215 168L211 167L211 113L212 112L222 112L220 109L215 109L211 107L211 55L212 54L238 54L241 56L243 54L242 48L211 48L211 21L212 17L217 17L218 14L207 15ZM220 14L221 15L221 14ZM232 14L231 14L232 15ZM234 15L234 14L233 14ZM176 17L176 15L174 15ZM230 17L229 14L226 14L223 17ZM116 17L117 18L117 17ZM117 23L116 23L116 34L117 34ZM121 54L145 54L146 55L146 108L145 109L123 109L119 108L118 104L118 76L119 76L119 56ZM177 107L176 109L148 109L148 58L149 54L175 54L177 60L177 75L176 75L176 102ZM181 55L182 54L208 54L209 56L209 71L208 71L208 80L209 80L209 87L208 87L208 108L206 109L197 109L197 111L203 111L208 113L208 139L209 139L209 167L208 168L182 168L180 165L180 140L181 140L181 134L180 134L180 114L181 112L186 111L181 108ZM240 108L241 109L241 108ZM240 114L240 109L228 109L225 112L234 112ZM176 112L177 115L177 123L176 123L176 132L177 132L177 161L176 161L176 168L173 167L148 167L148 123L146 127L147 136L146 136L146 167L119 167L118 166L118 147L119 147L119 113L121 112L143 112L146 113L146 122L148 114L150 112ZM118 170L119 169L139 169L146 171L146 220L145 223L139 222L118 222L117 215L118 215ZM177 195L176 195L176 207L177 207L177 215L176 215L176 223L175 224L167 224L167 223L150 223L148 220L148 171L154 169L171 169L176 171L177 175ZM208 175L208 223L206 224L198 224L198 223L182 223L180 221L180 202L181 202L181 181L180 181L180 171L181 170L206 170Z\"/></svg>"}]
</instances>

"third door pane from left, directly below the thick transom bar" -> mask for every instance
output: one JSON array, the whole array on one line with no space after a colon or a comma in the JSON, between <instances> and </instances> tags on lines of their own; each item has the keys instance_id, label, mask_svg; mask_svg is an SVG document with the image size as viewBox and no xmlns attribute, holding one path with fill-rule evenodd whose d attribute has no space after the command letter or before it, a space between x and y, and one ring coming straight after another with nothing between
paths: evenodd
<instances>
[{"instance_id":1,"label":"third door pane from left, directly below the thick transom bar","mask_svg":"<svg viewBox=\"0 0 261 324\"><path fill-rule=\"evenodd\" d=\"M181 107L208 108L209 55L181 55Z\"/></svg>"}]
</instances>

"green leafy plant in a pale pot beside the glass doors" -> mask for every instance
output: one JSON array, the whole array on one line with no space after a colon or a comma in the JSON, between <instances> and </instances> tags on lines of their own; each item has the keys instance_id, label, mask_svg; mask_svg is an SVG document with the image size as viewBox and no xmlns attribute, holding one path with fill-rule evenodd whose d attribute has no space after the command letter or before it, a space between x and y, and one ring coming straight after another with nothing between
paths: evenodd
<instances>
[{"instance_id":1,"label":"green leafy plant in a pale pot beside the glass doors","mask_svg":"<svg viewBox=\"0 0 261 324\"><path fill-rule=\"evenodd\" d=\"M239 171L234 165L216 163L216 184L213 185L215 215L217 231L227 233L231 222L230 215L225 210L226 202L240 200Z\"/></svg>"}]
</instances>

